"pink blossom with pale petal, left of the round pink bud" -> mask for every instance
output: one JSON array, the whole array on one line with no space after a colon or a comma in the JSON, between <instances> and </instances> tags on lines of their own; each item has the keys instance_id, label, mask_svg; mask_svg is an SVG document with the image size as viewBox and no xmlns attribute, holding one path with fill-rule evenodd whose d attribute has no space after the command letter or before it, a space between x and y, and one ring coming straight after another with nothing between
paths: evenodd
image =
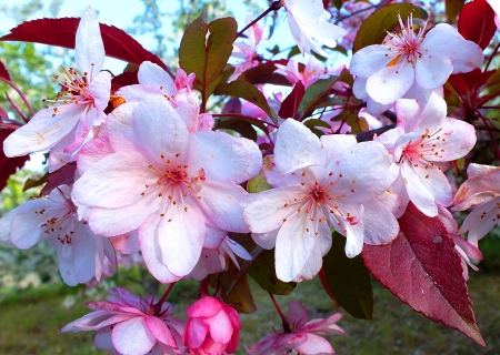
<instances>
[{"instance_id":1,"label":"pink blossom with pale petal, left of the round pink bud","mask_svg":"<svg viewBox=\"0 0 500 355\"><path fill-rule=\"evenodd\" d=\"M59 332L98 331L98 348L120 355L182 354L184 323L172 317L170 303L138 297L124 288L112 288L108 302L87 304L94 312L78 318Z\"/></svg>"}]
</instances>

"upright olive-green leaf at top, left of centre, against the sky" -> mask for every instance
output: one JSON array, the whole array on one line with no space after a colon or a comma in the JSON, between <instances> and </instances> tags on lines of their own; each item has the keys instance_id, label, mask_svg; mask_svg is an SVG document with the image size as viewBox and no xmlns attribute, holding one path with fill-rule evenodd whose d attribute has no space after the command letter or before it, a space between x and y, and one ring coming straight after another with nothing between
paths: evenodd
<instances>
[{"instance_id":1,"label":"upright olive-green leaf at top, left of centre, against the sky","mask_svg":"<svg viewBox=\"0 0 500 355\"><path fill-rule=\"evenodd\" d=\"M179 48L179 65L187 73L197 75L193 87L207 99L209 85L223 74L238 26L233 18L218 19L207 24L204 17L203 11L186 29Z\"/></svg>"}]
</instances>

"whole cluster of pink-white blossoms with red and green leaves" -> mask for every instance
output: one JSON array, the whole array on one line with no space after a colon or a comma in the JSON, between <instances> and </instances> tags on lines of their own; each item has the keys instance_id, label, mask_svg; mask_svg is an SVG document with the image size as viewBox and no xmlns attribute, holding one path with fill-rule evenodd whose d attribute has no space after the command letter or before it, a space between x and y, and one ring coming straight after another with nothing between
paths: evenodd
<instances>
[{"instance_id":1,"label":"whole cluster of pink-white blossoms with red and green leaves","mask_svg":"<svg viewBox=\"0 0 500 355\"><path fill-rule=\"evenodd\" d=\"M274 1L240 32L232 18L207 23L201 14L186 29L177 69L100 24L90 7L81 19L26 22L0 38L31 41L39 28L38 41L74 45L76 60L28 123L0 115L4 155L49 151L41 195L0 219L0 241L23 250L47 241L69 285L99 282L106 265L118 271L117 252L140 253L170 285L160 300L113 288L61 332L97 331L96 346L113 354L233 353L239 313L256 311L251 276L282 331L247 345L249 354L333 354L322 336L344 334L341 314L309 321L291 301L287 317L274 295L318 276L346 312L370 318L371 293L347 302L353 285L339 284L339 273L356 271L357 283L371 290L372 273L416 311L484 345L466 280L482 258L478 241L500 221L499 168L470 163L460 187L453 173L474 159L483 131L500 158L487 105L500 93L498 45L487 49L498 9L463 6L457 30L390 2ZM286 11L307 63L260 54L259 21L272 11ZM332 23L349 18L356 26ZM73 30L53 43L58 27ZM329 68L328 48L342 37L350 64ZM112 77L106 55L137 70ZM459 106L449 106L452 97ZM459 227L452 211L469 209ZM408 277L421 292L406 290ZM192 278L200 297L184 323L167 298Z\"/></svg>"}]
</instances>

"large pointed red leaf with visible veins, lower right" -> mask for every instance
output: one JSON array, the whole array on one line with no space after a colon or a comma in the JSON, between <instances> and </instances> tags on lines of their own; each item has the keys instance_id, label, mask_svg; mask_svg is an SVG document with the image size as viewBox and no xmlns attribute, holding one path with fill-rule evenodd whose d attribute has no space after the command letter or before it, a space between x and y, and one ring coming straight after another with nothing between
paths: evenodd
<instances>
[{"instance_id":1,"label":"large pointed red leaf with visible veins, lower right","mask_svg":"<svg viewBox=\"0 0 500 355\"><path fill-rule=\"evenodd\" d=\"M363 246L361 256L368 270L414 311L486 346L460 256L442 223L410 203L399 225L401 232L390 244Z\"/></svg>"}]
</instances>

